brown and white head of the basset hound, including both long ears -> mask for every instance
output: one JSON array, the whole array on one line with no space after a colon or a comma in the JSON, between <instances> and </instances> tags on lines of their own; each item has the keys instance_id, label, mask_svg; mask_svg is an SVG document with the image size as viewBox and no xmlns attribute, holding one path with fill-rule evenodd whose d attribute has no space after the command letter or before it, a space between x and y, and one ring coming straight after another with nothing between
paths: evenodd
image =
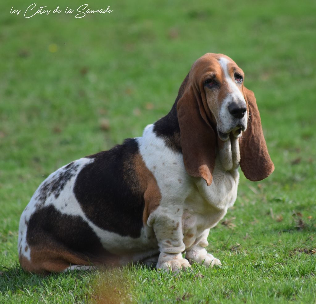
<instances>
[{"instance_id":1,"label":"brown and white head of the basset hound, including both long ears","mask_svg":"<svg viewBox=\"0 0 316 304\"><path fill-rule=\"evenodd\" d=\"M207 53L193 65L177 97L180 140L186 171L212 182L216 143L239 138L240 167L257 181L273 172L252 91L244 72L229 57Z\"/></svg>"}]
</instances>

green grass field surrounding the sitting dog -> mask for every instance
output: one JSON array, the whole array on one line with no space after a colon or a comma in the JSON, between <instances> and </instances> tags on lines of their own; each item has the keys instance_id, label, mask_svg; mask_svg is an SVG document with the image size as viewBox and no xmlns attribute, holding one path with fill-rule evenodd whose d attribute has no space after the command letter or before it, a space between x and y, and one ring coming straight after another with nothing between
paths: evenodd
<instances>
[{"instance_id":1,"label":"green grass field surrounding the sitting dog","mask_svg":"<svg viewBox=\"0 0 316 304\"><path fill-rule=\"evenodd\" d=\"M316 303L316 2L91 1L113 12L26 19L31 3L0 4L0 303ZM19 218L43 179L140 136L206 52L244 70L276 167L258 183L242 175L211 230L223 266L176 277L138 265L22 271Z\"/></svg>"}]
</instances>

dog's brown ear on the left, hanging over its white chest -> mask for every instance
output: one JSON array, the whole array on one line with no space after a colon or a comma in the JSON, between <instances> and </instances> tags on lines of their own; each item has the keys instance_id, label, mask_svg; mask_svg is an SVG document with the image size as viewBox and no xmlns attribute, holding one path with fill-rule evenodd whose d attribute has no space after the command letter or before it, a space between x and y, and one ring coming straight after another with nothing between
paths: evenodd
<instances>
[{"instance_id":1,"label":"dog's brown ear on the left, hanging over its white chest","mask_svg":"<svg viewBox=\"0 0 316 304\"><path fill-rule=\"evenodd\" d=\"M179 94L182 96L177 98L177 115L185 170L191 176L202 177L209 186L215 166L216 136L208 122L201 93L190 84L188 76Z\"/></svg>"}]
</instances>

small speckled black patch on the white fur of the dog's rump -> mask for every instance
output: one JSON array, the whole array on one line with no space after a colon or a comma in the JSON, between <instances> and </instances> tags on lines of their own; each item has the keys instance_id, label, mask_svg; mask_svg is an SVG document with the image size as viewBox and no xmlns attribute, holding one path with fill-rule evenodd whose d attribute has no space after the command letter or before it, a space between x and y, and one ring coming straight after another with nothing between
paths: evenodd
<instances>
[{"instance_id":1,"label":"small speckled black patch on the white fur of the dog's rump","mask_svg":"<svg viewBox=\"0 0 316 304\"><path fill-rule=\"evenodd\" d=\"M64 168L59 169L58 174L52 179L44 181L40 186L39 194L36 200L44 204L46 199L53 193L55 198L59 197L60 192L64 189L66 183L76 174L79 164L71 162Z\"/></svg>"}]
</instances>

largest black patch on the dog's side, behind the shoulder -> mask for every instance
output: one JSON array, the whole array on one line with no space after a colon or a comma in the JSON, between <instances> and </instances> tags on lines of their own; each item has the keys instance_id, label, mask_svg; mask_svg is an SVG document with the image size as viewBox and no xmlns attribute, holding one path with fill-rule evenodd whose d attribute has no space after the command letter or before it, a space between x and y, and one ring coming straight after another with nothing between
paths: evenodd
<instances>
[{"instance_id":1,"label":"largest black patch on the dog's side, behind the shoulder","mask_svg":"<svg viewBox=\"0 0 316 304\"><path fill-rule=\"evenodd\" d=\"M133 170L136 139L126 139L109 151L88 157L94 161L78 173L75 196L86 216L98 227L137 238L143 227L144 193ZM137 190L138 189L138 190Z\"/></svg>"}]
</instances>

